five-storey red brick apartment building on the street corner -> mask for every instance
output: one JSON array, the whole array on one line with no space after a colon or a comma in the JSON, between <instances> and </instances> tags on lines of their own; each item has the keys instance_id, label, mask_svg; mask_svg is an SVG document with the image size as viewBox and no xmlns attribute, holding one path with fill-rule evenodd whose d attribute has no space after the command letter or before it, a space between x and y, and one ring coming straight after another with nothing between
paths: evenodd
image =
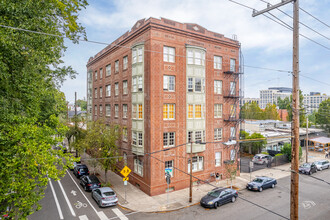
<instances>
[{"instance_id":1,"label":"five-storey red brick apartment building on the street corner","mask_svg":"<svg viewBox=\"0 0 330 220\"><path fill-rule=\"evenodd\" d=\"M238 161L239 58L237 40L197 24L149 18L89 59L89 119L121 125L120 166L131 168L133 185L149 195L165 193L166 170L170 190L188 187L181 171L189 173L191 141L193 175L225 178L224 162Z\"/></svg>"}]
</instances>

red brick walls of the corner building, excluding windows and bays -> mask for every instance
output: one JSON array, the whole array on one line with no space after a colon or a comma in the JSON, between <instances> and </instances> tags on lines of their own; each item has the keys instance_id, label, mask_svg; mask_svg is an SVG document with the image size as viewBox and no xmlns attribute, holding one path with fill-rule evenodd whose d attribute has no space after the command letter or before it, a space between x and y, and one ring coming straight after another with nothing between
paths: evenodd
<instances>
[{"instance_id":1,"label":"red brick walls of the corner building, excluding windows and bays","mask_svg":"<svg viewBox=\"0 0 330 220\"><path fill-rule=\"evenodd\" d=\"M132 47L138 43L144 44L143 64L143 149L144 154L132 152ZM119 46L118 46L119 45ZM100 116L102 105L103 116L105 116L105 104L111 105L111 116L105 117L107 123L115 123L127 127L127 142L121 141L122 153L127 156L127 166L131 168L129 175L130 182L149 195L165 193L166 182L164 178L165 164L163 161L173 161L173 177L170 187L174 190L183 189L189 186L187 149L190 144L175 147L168 151L161 151L163 147L163 133L175 132L175 144L181 145L187 140L187 45L203 48L205 52L205 150L194 153L193 156L203 157L203 170L193 172L193 175L202 180L213 181L213 173L220 173L226 176L224 161L229 160L230 150L234 145L225 145L230 139L230 127L235 127L235 136L238 137L239 127L236 120L228 119L231 104L236 104L237 97L228 96L230 82L236 82L235 94L239 92L239 82L234 73L225 74L229 70L230 59L236 60L236 71L239 66L240 44L236 40L225 38L204 29L196 24L182 24L167 19L149 18L138 21L130 32L125 33L117 39L113 45L103 49L87 64L88 72L92 72L93 84L91 111L93 120ZM175 62L163 61L163 48L168 46L175 48ZM222 69L214 69L214 55L222 57ZM123 57L128 56L128 68L123 69ZM119 60L119 71L115 73L115 61ZM111 64L111 76L106 76L106 65ZM100 68L103 69L103 77L100 79ZM94 73L98 71L97 80ZM175 76L175 91L163 90L163 76ZM236 79L235 79L236 78ZM123 94L123 81L128 82L128 94ZM222 94L215 94L214 80L222 81ZM119 94L115 96L115 83L119 84ZM111 96L106 97L106 85L111 84ZM99 92L102 87L102 98L94 97L94 89ZM227 97L226 97L227 96ZM163 104L175 104L175 119L163 120ZM123 104L127 104L127 118L123 119ZM214 117L214 104L222 104L222 118ZM94 113L94 106L97 106L97 113ZM115 117L115 105L119 106L119 115ZM239 107L233 118L238 118ZM102 117L103 117L102 116ZM214 129L222 128L222 139L219 143L214 140ZM222 143L221 143L222 142ZM236 149L237 150L237 149ZM148 155L150 152L161 151ZM188 151L189 152L189 151ZM221 165L215 166L215 152L221 152ZM155 158L157 159L155 159ZM134 173L134 158L143 161L143 176ZM237 159L237 158L236 158ZM236 160L235 159L235 160ZM119 165L123 166L123 161ZM195 179L196 180L196 179ZM195 181L194 180L194 181Z\"/></svg>"}]
</instances>

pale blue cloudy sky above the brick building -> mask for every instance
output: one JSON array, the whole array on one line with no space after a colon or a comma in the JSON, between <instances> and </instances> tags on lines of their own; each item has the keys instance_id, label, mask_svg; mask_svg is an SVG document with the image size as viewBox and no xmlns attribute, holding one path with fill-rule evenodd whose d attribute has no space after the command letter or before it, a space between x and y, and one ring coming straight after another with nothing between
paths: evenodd
<instances>
[{"instance_id":1,"label":"pale blue cloudy sky above the brick building","mask_svg":"<svg viewBox=\"0 0 330 220\"><path fill-rule=\"evenodd\" d=\"M256 10L267 7L263 0L235 1ZM281 0L266 1L277 4ZM330 95L330 1L299 2L301 9L325 23L299 10L300 34L310 39L300 37L299 40L300 89L304 94ZM259 90L269 87L292 87L292 31L269 19L277 17L292 26L291 3L280 7L289 16L274 9L266 14L269 18L252 17L252 9L229 0L89 0L88 3L79 13L79 22L86 28L90 41L111 44L143 18L163 17L181 23L196 23L228 38L237 36L244 56L244 97L259 97ZM75 92L78 99L86 97L88 59L106 45L73 44L68 40L65 45L64 65L72 66L78 75L76 79L67 79L61 91L73 103Z\"/></svg>"}]
</instances>

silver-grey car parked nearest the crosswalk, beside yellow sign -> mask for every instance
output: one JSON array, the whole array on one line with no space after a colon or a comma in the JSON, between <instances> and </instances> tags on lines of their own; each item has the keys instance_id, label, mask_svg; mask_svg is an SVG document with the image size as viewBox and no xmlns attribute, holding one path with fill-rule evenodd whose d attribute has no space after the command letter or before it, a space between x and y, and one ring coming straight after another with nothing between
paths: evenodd
<instances>
[{"instance_id":1,"label":"silver-grey car parked nearest the crosswalk, beside yellow sign","mask_svg":"<svg viewBox=\"0 0 330 220\"><path fill-rule=\"evenodd\" d=\"M117 195L110 187L93 189L92 197L99 207L114 206L118 203Z\"/></svg>"}]
</instances>

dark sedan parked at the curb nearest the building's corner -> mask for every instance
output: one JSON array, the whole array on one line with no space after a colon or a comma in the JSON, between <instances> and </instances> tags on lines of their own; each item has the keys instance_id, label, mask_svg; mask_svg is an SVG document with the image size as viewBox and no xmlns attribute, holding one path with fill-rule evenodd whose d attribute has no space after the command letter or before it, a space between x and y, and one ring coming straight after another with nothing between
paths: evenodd
<instances>
[{"instance_id":1,"label":"dark sedan parked at the curb nearest the building's corner","mask_svg":"<svg viewBox=\"0 0 330 220\"><path fill-rule=\"evenodd\" d=\"M215 188L201 199L200 204L205 208L216 209L228 202L235 202L237 197L238 193L234 189Z\"/></svg>"}]
</instances>

